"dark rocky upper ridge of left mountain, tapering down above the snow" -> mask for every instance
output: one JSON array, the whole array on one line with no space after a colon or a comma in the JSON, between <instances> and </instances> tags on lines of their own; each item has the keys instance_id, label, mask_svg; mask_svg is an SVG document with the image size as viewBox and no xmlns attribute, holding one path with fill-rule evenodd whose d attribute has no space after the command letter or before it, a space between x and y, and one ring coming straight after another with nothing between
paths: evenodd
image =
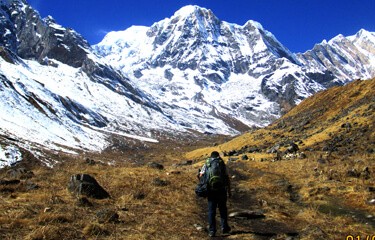
<instances>
[{"instance_id":1,"label":"dark rocky upper ridge of left mountain, tapering down above the snow","mask_svg":"<svg viewBox=\"0 0 375 240\"><path fill-rule=\"evenodd\" d=\"M0 44L20 58L47 66L53 65L52 59L81 68L94 81L100 81L112 90L119 91L121 88L127 97L157 109L145 100L141 91L128 83L121 72L95 56L88 42L73 29L57 24L51 16L41 19L39 13L24 0L4 1L1 11L0 34L5 37L0 39Z\"/></svg>"}]
</instances>

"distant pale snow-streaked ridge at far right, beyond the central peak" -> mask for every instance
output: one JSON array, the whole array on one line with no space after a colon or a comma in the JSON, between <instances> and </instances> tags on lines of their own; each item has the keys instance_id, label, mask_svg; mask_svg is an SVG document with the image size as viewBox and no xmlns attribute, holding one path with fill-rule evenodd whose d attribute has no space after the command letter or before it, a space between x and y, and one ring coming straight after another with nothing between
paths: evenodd
<instances>
[{"instance_id":1,"label":"distant pale snow-streaked ridge at far right, beyond the central peak","mask_svg":"<svg viewBox=\"0 0 375 240\"><path fill-rule=\"evenodd\" d=\"M375 33L361 29L349 37L340 34L298 54L298 59L310 73L331 72L332 76L321 82L324 86L332 85L334 78L342 83L372 78L375 76Z\"/></svg>"}]
</instances>

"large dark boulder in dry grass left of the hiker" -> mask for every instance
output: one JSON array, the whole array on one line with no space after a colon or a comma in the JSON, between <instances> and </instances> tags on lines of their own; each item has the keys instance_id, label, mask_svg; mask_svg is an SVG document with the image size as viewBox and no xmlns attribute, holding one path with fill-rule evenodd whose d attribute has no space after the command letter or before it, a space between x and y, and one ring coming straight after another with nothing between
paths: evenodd
<instances>
[{"instance_id":1,"label":"large dark boulder in dry grass left of the hiker","mask_svg":"<svg viewBox=\"0 0 375 240\"><path fill-rule=\"evenodd\" d=\"M75 174L70 177L68 190L72 194L86 195L96 199L109 198L109 193L89 174Z\"/></svg>"}]
</instances>

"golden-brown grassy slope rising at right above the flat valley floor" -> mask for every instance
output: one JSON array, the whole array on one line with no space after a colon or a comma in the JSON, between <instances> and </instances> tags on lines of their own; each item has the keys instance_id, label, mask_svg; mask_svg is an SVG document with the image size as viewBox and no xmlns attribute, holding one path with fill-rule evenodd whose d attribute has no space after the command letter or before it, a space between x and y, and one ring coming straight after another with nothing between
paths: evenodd
<instances>
[{"instance_id":1,"label":"golden-brown grassy slope rising at right above the flat valley floor","mask_svg":"<svg viewBox=\"0 0 375 240\"><path fill-rule=\"evenodd\" d=\"M302 101L270 126L245 133L213 148L189 154L196 158L214 149L266 154L298 143L301 151L339 156L375 153L375 79L333 87ZM251 154L250 151L250 154ZM273 158L273 154L268 156Z\"/></svg>"}]
</instances>

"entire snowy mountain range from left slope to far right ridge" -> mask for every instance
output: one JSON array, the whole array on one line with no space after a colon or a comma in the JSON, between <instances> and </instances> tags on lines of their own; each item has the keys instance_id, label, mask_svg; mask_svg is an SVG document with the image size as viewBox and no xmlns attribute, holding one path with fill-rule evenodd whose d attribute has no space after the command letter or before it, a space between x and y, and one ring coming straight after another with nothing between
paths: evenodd
<instances>
[{"instance_id":1,"label":"entire snowy mountain range from left slope to far right ridge","mask_svg":"<svg viewBox=\"0 0 375 240\"><path fill-rule=\"evenodd\" d=\"M294 54L255 21L239 26L187 6L91 47L25 0L0 5L0 136L24 146L101 150L112 134L238 134L375 73L375 35L365 30Z\"/></svg>"}]
</instances>

